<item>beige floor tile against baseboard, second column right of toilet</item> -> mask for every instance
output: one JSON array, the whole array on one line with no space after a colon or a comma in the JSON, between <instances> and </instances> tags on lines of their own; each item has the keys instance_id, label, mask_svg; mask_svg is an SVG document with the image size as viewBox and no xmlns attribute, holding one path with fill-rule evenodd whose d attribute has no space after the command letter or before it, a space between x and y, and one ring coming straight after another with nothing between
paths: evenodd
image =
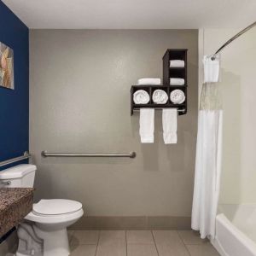
<instances>
[{"instance_id":1,"label":"beige floor tile against baseboard, second column right of toilet","mask_svg":"<svg viewBox=\"0 0 256 256\"><path fill-rule=\"evenodd\" d=\"M124 230L102 230L96 256L126 256Z\"/></svg>"}]
</instances>

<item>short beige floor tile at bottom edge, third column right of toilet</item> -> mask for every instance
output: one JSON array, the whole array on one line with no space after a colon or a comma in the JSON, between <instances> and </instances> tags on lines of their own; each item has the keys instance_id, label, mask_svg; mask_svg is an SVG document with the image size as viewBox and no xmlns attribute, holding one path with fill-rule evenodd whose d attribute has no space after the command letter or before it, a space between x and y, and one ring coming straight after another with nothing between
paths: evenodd
<instances>
[{"instance_id":1,"label":"short beige floor tile at bottom edge, third column right of toilet","mask_svg":"<svg viewBox=\"0 0 256 256\"><path fill-rule=\"evenodd\" d=\"M158 256L154 244L127 244L127 256Z\"/></svg>"}]
</instances>

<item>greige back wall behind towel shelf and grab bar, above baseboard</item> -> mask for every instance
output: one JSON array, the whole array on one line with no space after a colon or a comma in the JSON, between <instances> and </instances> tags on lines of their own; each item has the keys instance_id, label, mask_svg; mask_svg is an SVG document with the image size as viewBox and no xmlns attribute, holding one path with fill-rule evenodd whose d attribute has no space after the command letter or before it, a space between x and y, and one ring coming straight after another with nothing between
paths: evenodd
<instances>
[{"instance_id":1,"label":"greige back wall behind towel shelf and grab bar, above baseboard","mask_svg":"<svg viewBox=\"0 0 256 256\"><path fill-rule=\"evenodd\" d=\"M81 201L90 216L189 216L197 123L196 30L30 32L30 151L38 198ZM189 112L178 143L141 144L130 116L137 79L162 76L167 48L188 48ZM130 159L43 159L41 151L137 152Z\"/></svg>"}]
</instances>

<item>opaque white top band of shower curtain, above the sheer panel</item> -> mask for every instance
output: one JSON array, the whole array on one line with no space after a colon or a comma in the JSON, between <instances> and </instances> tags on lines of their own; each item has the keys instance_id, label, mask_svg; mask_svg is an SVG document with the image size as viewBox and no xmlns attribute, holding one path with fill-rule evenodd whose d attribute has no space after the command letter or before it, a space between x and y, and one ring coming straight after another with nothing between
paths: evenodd
<instances>
[{"instance_id":1,"label":"opaque white top band of shower curtain, above the sheer panel","mask_svg":"<svg viewBox=\"0 0 256 256\"><path fill-rule=\"evenodd\" d=\"M204 64L204 82L217 83L219 76L219 55L212 61L211 55L205 55L203 58Z\"/></svg>"}]
</instances>

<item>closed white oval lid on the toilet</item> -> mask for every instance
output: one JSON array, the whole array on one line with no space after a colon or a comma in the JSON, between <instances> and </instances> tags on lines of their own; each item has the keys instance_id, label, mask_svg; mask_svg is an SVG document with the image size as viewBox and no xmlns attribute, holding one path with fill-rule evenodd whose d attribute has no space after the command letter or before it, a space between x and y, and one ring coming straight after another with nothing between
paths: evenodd
<instances>
[{"instance_id":1,"label":"closed white oval lid on the toilet","mask_svg":"<svg viewBox=\"0 0 256 256\"><path fill-rule=\"evenodd\" d=\"M33 205L33 212L35 214L57 215L77 212L81 208L82 204L79 201L66 199L43 199Z\"/></svg>"}]
</instances>

